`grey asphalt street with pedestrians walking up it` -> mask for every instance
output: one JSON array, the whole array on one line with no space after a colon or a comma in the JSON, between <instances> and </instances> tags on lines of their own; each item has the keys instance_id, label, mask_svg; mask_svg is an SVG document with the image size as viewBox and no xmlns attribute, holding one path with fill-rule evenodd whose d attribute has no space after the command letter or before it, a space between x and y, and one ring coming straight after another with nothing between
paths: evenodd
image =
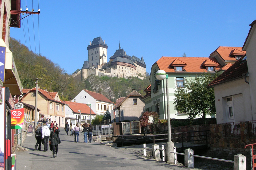
<instances>
[{"instance_id":1,"label":"grey asphalt street with pedestrians walking up it","mask_svg":"<svg viewBox=\"0 0 256 170\"><path fill-rule=\"evenodd\" d=\"M79 134L79 142L74 142L74 136L66 135L64 128L60 128L58 157L52 158L52 151L34 151L35 135L27 136L22 146L28 151L17 151L18 170L196 170L183 165L173 165L166 162L145 159L138 155L138 151L129 148L115 148L111 145L92 141L84 143L83 133ZM43 145L41 145L43 150ZM142 150L142 148L141 148Z\"/></svg>"}]
</instances>

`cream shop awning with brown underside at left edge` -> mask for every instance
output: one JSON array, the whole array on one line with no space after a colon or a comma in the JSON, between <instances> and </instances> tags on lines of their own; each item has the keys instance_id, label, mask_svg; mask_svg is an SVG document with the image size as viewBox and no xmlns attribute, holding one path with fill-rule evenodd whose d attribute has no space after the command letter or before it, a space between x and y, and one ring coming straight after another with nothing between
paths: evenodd
<instances>
[{"instance_id":1,"label":"cream shop awning with brown underside at left edge","mask_svg":"<svg viewBox=\"0 0 256 170\"><path fill-rule=\"evenodd\" d=\"M9 87L12 95L21 95L22 87L20 77L14 62L12 52L7 47L3 39L0 39L0 46L6 47L5 50L5 75L3 87Z\"/></svg>"}]
</instances>

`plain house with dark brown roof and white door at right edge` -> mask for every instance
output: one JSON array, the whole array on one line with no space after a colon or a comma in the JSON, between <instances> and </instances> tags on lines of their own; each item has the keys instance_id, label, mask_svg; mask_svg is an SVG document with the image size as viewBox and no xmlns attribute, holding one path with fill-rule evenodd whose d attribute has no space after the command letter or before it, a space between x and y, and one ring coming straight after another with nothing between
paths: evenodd
<instances>
[{"instance_id":1,"label":"plain house with dark brown roof and white door at right edge","mask_svg":"<svg viewBox=\"0 0 256 170\"><path fill-rule=\"evenodd\" d=\"M214 88L218 124L256 120L256 20L250 26L241 49L246 55L208 85Z\"/></svg>"}]
</instances>

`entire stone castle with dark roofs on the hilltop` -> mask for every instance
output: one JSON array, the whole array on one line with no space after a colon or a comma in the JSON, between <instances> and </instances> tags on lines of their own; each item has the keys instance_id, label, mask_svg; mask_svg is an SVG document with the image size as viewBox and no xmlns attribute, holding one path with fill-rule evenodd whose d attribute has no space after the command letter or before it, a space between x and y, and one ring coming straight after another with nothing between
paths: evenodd
<instances>
[{"instance_id":1,"label":"entire stone castle with dark roofs on the hilltop","mask_svg":"<svg viewBox=\"0 0 256 170\"><path fill-rule=\"evenodd\" d=\"M107 62L108 45L101 37L93 39L87 46L88 60L84 61L83 67L77 73L73 73L75 79L86 79L89 75L122 77L130 76L144 79L146 75L146 63L143 57L139 59L136 56L129 56L124 49L120 47Z\"/></svg>"}]
</instances>

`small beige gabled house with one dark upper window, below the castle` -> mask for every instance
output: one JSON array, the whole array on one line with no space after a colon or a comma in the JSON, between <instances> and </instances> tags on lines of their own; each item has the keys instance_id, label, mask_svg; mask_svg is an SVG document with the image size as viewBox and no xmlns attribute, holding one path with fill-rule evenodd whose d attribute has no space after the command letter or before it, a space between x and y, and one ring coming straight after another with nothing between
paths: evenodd
<instances>
[{"instance_id":1,"label":"small beige gabled house with one dark upper window, below the castle","mask_svg":"<svg viewBox=\"0 0 256 170\"><path fill-rule=\"evenodd\" d=\"M117 99L115 111L116 122L124 120L139 120L140 115L145 111L145 103L142 95L134 89L126 97Z\"/></svg>"}]
</instances>

